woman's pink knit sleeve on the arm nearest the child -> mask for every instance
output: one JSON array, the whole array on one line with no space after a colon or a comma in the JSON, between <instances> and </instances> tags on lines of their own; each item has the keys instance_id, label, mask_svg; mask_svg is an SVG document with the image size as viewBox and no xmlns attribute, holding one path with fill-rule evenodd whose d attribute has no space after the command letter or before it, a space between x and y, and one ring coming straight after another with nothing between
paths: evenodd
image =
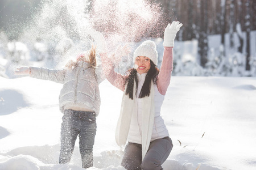
<instances>
[{"instance_id":1,"label":"woman's pink knit sleeve on the arm nearest the child","mask_svg":"<svg viewBox=\"0 0 256 170\"><path fill-rule=\"evenodd\" d=\"M107 53L100 53L102 62L102 71L113 86L119 88L120 90L125 90L125 80L126 75L119 74L114 71L114 66L111 59L108 57Z\"/></svg>"}]
</instances>

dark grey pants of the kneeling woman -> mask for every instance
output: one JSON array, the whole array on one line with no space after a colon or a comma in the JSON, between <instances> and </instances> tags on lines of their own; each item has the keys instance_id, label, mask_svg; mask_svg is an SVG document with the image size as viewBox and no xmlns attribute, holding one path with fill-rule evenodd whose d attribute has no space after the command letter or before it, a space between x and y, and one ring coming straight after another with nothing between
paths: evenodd
<instances>
[{"instance_id":1,"label":"dark grey pants of the kneeling woman","mask_svg":"<svg viewBox=\"0 0 256 170\"><path fill-rule=\"evenodd\" d=\"M128 170L163 169L161 165L170 155L172 147L171 138L165 137L162 139L156 139L155 141L150 142L148 151L142 160L142 145L128 142L125 147L125 154L123 155L121 165Z\"/></svg>"}]
</instances>

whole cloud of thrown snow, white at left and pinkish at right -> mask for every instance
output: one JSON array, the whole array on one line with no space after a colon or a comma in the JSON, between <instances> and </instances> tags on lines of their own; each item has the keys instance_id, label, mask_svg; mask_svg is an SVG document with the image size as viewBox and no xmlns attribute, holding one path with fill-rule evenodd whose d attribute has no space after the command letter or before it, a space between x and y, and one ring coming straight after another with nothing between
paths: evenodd
<instances>
[{"instance_id":1,"label":"whole cloud of thrown snow, white at left and pinkish at right","mask_svg":"<svg viewBox=\"0 0 256 170\"><path fill-rule=\"evenodd\" d=\"M89 28L105 36L111 51L118 44L141 41L152 33L160 36L162 15L157 3L146 0L45 0L24 39L45 42L58 63L90 48Z\"/></svg>"}]
</instances>

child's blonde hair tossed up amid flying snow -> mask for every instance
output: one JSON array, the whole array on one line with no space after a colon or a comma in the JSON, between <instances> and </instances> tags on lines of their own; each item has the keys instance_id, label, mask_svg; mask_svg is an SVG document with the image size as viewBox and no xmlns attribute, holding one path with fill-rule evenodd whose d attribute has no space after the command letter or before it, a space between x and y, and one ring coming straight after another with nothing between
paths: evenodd
<instances>
[{"instance_id":1,"label":"child's blonde hair tossed up amid flying snow","mask_svg":"<svg viewBox=\"0 0 256 170\"><path fill-rule=\"evenodd\" d=\"M90 50L85 53L80 53L77 59L78 58L81 58L81 60L84 62L89 62L90 67L96 68L97 66L96 46L92 44L92 47L90 48ZM78 66L77 61L73 61L73 60L69 60L68 63L65 65L65 67L67 67L68 69L72 69L72 67L77 67L77 66Z\"/></svg>"}]
</instances>

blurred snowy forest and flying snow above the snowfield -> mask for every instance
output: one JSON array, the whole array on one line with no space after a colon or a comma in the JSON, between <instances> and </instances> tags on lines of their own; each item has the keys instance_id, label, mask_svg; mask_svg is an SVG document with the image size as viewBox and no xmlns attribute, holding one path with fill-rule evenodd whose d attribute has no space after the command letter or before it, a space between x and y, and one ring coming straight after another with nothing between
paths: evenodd
<instances>
[{"instance_id":1,"label":"blurred snowy forest and flying snow above the snowfield","mask_svg":"<svg viewBox=\"0 0 256 170\"><path fill-rule=\"evenodd\" d=\"M0 1L0 75L16 66L63 67L89 48L86 29L102 32L110 52L156 42L159 65L167 23L179 20L173 75L256 76L256 1ZM131 55L133 52L131 52ZM123 57L117 70L133 62Z\"/></svg>"}]
</instances>

